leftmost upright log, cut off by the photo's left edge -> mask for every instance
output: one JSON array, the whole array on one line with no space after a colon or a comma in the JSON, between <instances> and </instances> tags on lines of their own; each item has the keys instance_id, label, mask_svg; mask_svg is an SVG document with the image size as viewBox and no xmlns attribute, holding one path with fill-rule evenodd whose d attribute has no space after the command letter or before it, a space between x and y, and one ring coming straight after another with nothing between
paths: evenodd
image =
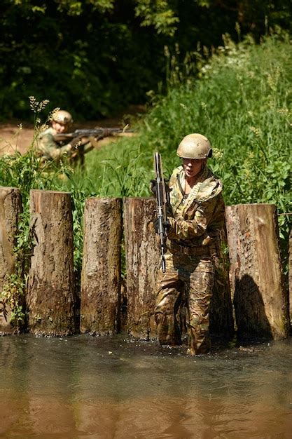
<instances>
[{"instance_id":1,"label":"leftmost upright log, cut off by the photo's left edge","mask_svg":"<svg viewBox=\"0 0 292 439\"><path fill-rule=\"evenodd\" d=\"M19 332L20 324L13 318L13 307L24 306L24 296L10 286L15 273L15 254L18 219L22 211L20 190L0 187L0 333Z\"/></svg>"}]
</instances>

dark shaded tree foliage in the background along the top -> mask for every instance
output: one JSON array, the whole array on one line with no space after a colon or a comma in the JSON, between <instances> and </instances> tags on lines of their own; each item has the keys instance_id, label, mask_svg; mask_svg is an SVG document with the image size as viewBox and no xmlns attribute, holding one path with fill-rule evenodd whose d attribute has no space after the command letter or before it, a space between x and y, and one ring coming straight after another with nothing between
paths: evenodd
<instances>
[{"instance_id":1,"label":"dark shaded tree foliage in the background along the top","mask_svg":"<svg viewBox=\"0 0 292 439\"><path fill-rule=\"evenodd\" d=\"M46 95L49 110L67 108L75 120L109 116L157 90L165 46L179 43L181 63L197 41L218 46L225 32L258 39L271 25L291 29L291 1L231 3L3 0L0 118L30 119L28 95Z\"/></svg>"}]
</instances>

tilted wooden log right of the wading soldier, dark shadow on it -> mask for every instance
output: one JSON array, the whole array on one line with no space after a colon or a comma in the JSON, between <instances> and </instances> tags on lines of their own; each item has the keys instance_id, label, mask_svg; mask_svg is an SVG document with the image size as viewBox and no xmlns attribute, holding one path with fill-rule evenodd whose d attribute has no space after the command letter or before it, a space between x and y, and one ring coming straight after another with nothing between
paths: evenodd
<instances>
[{"instance_id":1,"label":"tilted wooden log right of the wading soldier, dark shadow on it","mask_svg":"<svg viewBox=\"0 0 292 439\"><path fill-rule=\"evenodd\" d=\"M239 336L288 337L288 294L275 205L232 205L225 215Z\"/></svg>"}]
</instances>

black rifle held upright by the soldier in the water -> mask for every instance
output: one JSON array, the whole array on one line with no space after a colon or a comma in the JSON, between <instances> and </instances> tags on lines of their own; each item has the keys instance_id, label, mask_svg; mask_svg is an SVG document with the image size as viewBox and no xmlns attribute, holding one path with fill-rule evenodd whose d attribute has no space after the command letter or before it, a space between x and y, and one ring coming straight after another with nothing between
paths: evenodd
<instances>
[{"instance_id":1,"label":"black rifle held upright by the soldier in the water","mask_svg":"<svg viewBox=\"0 0 292 439\"><path fill-rule=\"evenodd\" d=\"M156 198L156 208L157 208L156 221L158 222L158 235L160 238L161 268L162 268L162 272L165 273L166 270L165 253L167 250L166 249L167 231L165 229L165 222L167 220L167 189L165 188L165 179L163 177L161 156L158 152L154 153L154 172L155 172L154 194Z\"/></svg>"}]
</instances>

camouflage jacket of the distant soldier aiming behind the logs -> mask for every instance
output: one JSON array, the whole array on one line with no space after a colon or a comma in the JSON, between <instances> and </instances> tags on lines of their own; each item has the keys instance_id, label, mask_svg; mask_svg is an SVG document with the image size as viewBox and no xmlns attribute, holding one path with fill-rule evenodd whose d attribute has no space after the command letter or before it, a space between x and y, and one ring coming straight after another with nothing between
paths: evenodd
<instances>
[{"instance_id":1,"label":"camouflage jacket of the distant soldier aiming behind the logs","mask_svg":"<svg viewBox=\"0 0 292 439\"><path fill-rule=\"evenodd\" d=\"M48 128L39 135L36 140L36 151L39 156L54 160L61 158L71 150L69 144L63 145L62 143L55 142L54 135L56 134L56 130Z\"/></svg>"}]
</instances>

